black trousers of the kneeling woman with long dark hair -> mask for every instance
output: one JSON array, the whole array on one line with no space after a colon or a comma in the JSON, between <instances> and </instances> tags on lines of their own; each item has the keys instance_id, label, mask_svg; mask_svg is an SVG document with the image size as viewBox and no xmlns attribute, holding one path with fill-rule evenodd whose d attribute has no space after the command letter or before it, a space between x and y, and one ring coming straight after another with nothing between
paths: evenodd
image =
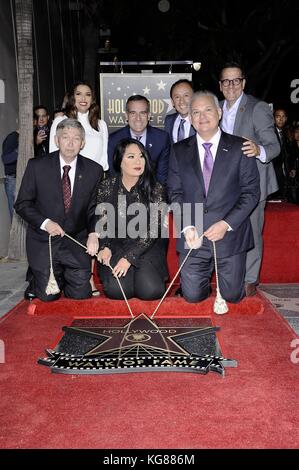
<instances>
[{"instance_id":1,"label":"black trousers of the kneeling woman with long dark hair","mask_svg":"<svg viewBox=\"0 0 299 470\"><path fill-rule=\"evenodd\" d=\"M121 256L117 253L113 255L110 260L111 266L115 266L120 258ZM97 263L97 270L105 295L110 299L123 299L122 292L111 269ZM142 259L138 268L131 265L126 276L119 279L128 299L137 297L142 300L155 300L160 299L165 292L165 280L150 259Z\"/></svg>"}]
</instances>

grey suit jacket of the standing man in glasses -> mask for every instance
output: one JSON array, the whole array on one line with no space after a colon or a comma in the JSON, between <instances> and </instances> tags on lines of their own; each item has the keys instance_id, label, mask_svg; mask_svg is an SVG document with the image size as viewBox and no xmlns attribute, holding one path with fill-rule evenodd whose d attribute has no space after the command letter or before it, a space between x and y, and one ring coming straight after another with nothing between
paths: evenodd
<instances>
[{"instance_id":1,"label":"grey suit jacket of the standing man in glasses","mask_svg":"<svg viewBox=\"0 0 299 470\"><path fill-rule=\"evenodd\" d=\"M220 106L223 107L223 104L224 101L220 103ZM260 200L264 201L269 194L278 189L271 160L279 155L280 145L275 134L270 106L264 101L244 93L237 111L233 134L251 139L265 149L266 162L262 163L256 159L260 174Z\"/></svg>"}]
</instances>

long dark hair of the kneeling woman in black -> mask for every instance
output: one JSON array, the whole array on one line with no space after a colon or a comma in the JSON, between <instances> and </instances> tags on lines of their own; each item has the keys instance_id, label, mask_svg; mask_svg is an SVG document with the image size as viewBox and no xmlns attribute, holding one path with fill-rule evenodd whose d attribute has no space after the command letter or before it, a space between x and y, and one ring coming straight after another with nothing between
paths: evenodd
<instances>
[{"instance_id":1,"label":"long dark hair of the kneeling woman in black","mask_svg":"<svg viewBox=\"0 0 299 470\"><path fill-rule=\"evenodd\" d=\"M114 149L113 168L119 175L121 174L121 162L126 148L131 144L137 145L145 160L144 172L140 176L137 186L141 194L142 202L149 207L150 202L153 202L153 189L156 183L156 178L154 176L149 155L144 145L138 140L131 138L120 140Z\"/></svg>"}]
</instances>

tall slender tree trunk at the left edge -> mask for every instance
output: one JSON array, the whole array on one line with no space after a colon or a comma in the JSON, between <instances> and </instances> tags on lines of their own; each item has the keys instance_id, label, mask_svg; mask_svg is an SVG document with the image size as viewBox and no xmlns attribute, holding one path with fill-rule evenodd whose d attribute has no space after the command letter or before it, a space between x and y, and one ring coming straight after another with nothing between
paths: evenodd
<instances>
[{"instance_id":1,"label":"tall slender tree trunk at the left edge","mask_svg":"<svg viewBox=\"0 0 299 470\"><path fill-rule=\"evenodd\" d=\"M33 156L33 55L32 55L32 0L15 0L18 88L19 88L19 155L16 193L18 193L29 158ZM26 226L14 214L10 230L8 257L26 259Z\"/></svg>"}]
</instances>

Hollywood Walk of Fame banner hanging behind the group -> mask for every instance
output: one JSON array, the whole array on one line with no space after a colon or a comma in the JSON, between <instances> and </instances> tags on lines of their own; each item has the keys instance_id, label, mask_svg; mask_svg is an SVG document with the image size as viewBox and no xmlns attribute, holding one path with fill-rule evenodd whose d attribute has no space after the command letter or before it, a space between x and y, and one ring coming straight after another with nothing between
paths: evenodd
<instances>
[{"instance_id":1,"label":"Hollywood Walk of Fame banner hanging behind the group","mask_svg":"<svg viewBox=\"0 0 299 470\"><path fill-rule=\"evenodd\" d=\"M101 73L101 117L109 132L126 125L126 101L132 95L145 96L151 105L151 124L164 128L166 114L173 111L170 88L180 79L192 80L191 73Z\"/></svg>"}]
</instances>

